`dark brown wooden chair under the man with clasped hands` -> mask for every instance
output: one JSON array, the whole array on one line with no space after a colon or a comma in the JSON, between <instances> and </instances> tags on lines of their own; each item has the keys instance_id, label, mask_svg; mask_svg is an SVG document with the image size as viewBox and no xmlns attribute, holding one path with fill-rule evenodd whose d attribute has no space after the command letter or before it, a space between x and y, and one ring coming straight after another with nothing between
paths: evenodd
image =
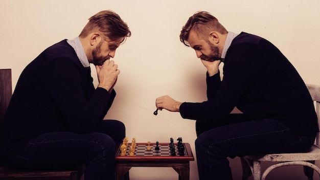
<instances>
[{"instance_id":1,"label":"dark brown wooden chair under the man with clasped hands","mask_svg":"<svg viewBox=\"0 0 320 180\"><path fill-rule=\"evenodd\" d=\"M0 130L12 96L11 69L0 69ZM0 133L1 134L1 133ZM69 171L21 171L5 167L0 157L0 179L21 180L76 180L77 170Z\"/></svg>"}]
</instances>

